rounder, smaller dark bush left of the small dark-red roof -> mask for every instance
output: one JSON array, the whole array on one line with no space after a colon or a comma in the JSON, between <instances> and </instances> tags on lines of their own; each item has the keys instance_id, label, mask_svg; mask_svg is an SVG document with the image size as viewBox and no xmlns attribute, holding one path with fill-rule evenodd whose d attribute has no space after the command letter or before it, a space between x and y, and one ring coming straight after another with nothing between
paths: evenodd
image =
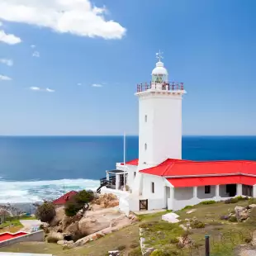
<instances>
[{"instance_id":1,"label":"rounder, smaller dark bush left of the small dark-red roof","mask_svg":"<svg viewBox=\"0 0 256 256\"><path fill-rule=\"evenodd\" d=\"M51 201L44 201L36 209L36 218L42 222L50 223L56 215L55 206Z\"/></svg>"}]
</instances>

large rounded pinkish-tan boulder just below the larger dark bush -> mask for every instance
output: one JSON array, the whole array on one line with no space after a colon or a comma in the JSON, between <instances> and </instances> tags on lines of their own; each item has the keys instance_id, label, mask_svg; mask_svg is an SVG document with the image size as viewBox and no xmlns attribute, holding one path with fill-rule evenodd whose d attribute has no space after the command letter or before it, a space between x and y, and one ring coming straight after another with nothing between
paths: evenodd
<instances>
[{"instance_id":1,"label":"large rounded pinkish-tan boulder just below the larger dark bush","mask_svg":"<svg viewBox=\"0 0 256 256\"><path fill-rule=\"evenodd\" d=\"M79 220L78 229L82 235L91 235L107 228L109 225L109 220L104 217L99 216L96 220L93 216L87 216Z\"/></svg>"}]
</instances>

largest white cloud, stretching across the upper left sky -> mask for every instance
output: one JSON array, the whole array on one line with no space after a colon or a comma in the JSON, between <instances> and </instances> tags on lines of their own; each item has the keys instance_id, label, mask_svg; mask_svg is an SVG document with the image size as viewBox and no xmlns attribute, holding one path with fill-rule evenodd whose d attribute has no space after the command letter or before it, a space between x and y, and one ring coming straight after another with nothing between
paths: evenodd
<instances>
[{"instance_id":1,"label":"largest white cloud, stretching across the upper left sky","mask_svg":"<svg viewBox=\"0 0 256 256\"><path fill-rule=\"evenodd\" d=\"M121 39L126 28L106 19L105 7L93 7L91 0L1 0L0 18L48 27L59 33L104 39Z\"/></svg>"}]
</instances>

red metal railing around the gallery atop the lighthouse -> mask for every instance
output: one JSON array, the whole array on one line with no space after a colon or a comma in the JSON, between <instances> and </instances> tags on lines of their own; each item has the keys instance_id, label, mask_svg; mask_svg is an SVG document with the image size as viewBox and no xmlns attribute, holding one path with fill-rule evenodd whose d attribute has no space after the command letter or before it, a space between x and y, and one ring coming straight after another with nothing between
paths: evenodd
<instances>
[{"instance_id":1,"label":"red metal railing around the gallery atop the lighthouse","mask_svg":"<svg viewBox=\"0 0 256 256\"><path fill-rule=\"evenodd\" d=\"M164 91L183 91L184 83L168 82L168 83L139 83L137 84L137 92L145 92L149 89L159 89Z\"/></svg>"}]
</instances>

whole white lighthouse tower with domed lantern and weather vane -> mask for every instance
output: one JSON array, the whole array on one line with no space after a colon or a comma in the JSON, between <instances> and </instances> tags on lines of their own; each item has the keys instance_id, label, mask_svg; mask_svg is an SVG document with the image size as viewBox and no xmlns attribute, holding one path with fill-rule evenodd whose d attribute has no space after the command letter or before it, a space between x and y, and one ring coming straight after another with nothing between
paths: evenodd
<instances>
[{"instance_id":1,"label":"whole white lighthouse tower with domed lantern and weather vane","mask_svg":"<svg viewBox=\"0 0 256 256\"><path fill-rule=\"evenodd\" d=\"M182 159L183 83L168 82L162 53L152 71L150 83L139 84L139 168L145 169L166 159Z\"/></svg>"}]
</instances>

